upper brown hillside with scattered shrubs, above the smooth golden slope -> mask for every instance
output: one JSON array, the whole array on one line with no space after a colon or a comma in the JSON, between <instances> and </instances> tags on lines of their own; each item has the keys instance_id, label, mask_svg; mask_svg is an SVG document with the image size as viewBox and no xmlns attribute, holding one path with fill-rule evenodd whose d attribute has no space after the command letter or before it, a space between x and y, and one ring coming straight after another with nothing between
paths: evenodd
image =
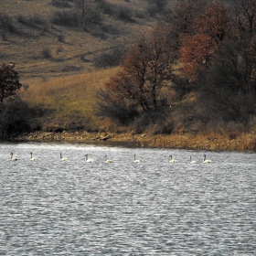
<instances>
[{"instance_id":1,"label":"upper brown hillside with scattered shrubs, above the smooth golden slope","mask_svg":"<svg viewBox=\"0 0 256 256\"><path fill-rule=\"evenodd\" d=\"M97 11L101 16L99 23L88 29L59 26L52 21L54 14L72 11L72 7L59 8L52 2L1 0L0 13L11 18L16 31L7 32L5 40L0 38L0 62L15 63L23 84L91 72L95 70L93 59L97 54L114 44L129 42L156 21L147 12L150 1L108 0ZM132 20L125 20L123 11Z\"/></svg>"}]
</instances>

